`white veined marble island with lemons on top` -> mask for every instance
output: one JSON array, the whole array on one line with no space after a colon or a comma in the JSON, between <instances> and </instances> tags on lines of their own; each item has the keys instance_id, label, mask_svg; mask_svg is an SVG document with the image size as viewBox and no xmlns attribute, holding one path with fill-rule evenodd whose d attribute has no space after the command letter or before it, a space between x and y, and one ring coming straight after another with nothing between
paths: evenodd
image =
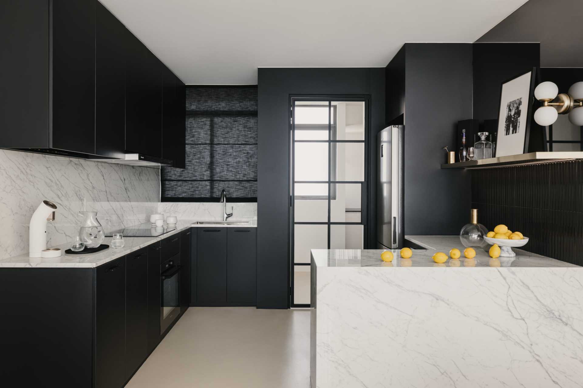
<instances>
[{"instance_id":1,"label":"white veined marble island with lemons on top","mask_svg":"<svg viewBox=\"0 0 583 388\"><path fill-rule=\"evenodd\" d=\"M582 267L521 250L438 265L458 237L408 239L427 249L391 263L312 250L312 388L583 386Z\"/></svg>"}]
</instances>

